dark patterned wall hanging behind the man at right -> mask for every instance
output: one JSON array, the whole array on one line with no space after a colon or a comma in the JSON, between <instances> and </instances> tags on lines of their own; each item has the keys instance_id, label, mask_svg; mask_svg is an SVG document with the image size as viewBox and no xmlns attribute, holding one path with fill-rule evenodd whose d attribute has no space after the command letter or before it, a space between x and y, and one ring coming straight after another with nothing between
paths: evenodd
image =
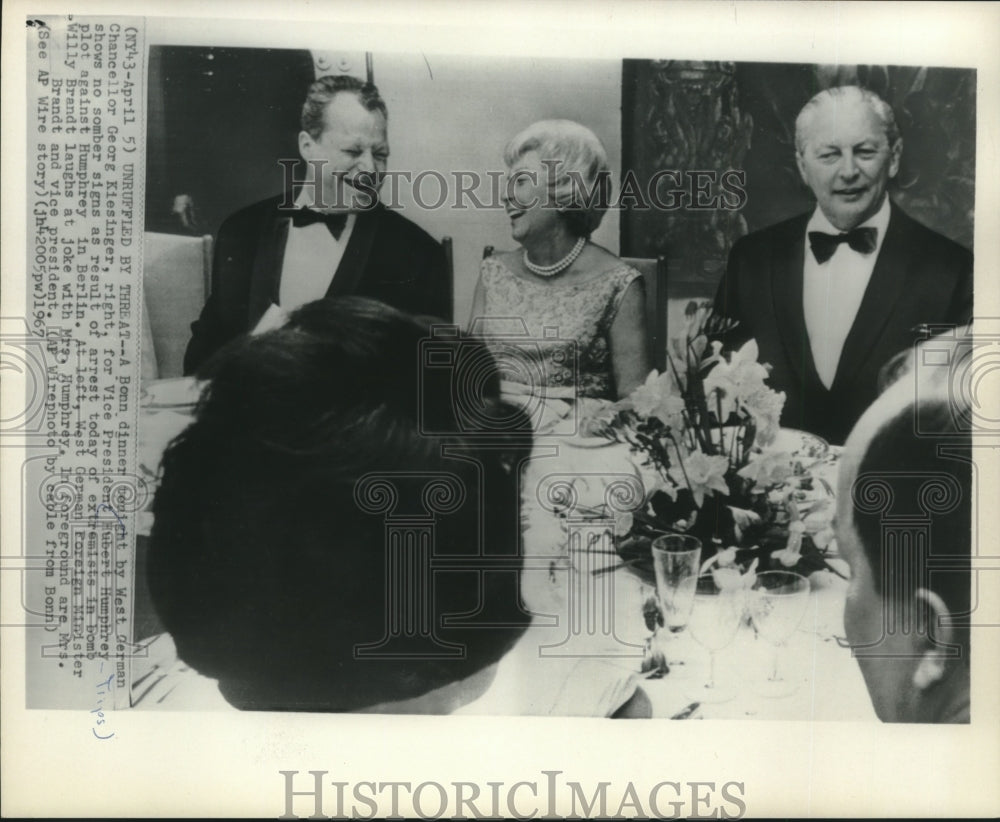
<instances>
[{"instance_id":1,"label":"dark patterned wall hanging behind the man at right","mask_svg":"<svg viewBox=\"0 0 1000 822\"><path fill-rule=\"evenodd\" d=\"M744 170L746 201L738 211L625 211L622 253L666 254L671 296L712 294L738 237L813 208L795 166L795 117L818 91L848 83L878 92L896 114L903 160L890 195L971 247L974 70L626 60L623 173Z\"/></svg>"}]
</instances>

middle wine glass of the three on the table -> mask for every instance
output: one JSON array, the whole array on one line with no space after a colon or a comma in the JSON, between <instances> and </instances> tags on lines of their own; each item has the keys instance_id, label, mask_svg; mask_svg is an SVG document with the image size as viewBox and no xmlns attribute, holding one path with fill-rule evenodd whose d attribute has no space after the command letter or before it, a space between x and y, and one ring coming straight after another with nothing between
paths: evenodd
<instances>
[{"instance_id":1,"label":"middle wine glass of the three on the table","mask_svg":"<svg viewBox=\"0 0 1000 822\"><path fill-rule=\"evenodd\" d=\"M709 668L707 681L689 691L692 699L701 702L726 702L736 696L736 690L732 686L716 682L716 656L736 636L743 620L745 603L741 580L729 580L713 573L698 577L688 627L695 641L708 650Z\"/></svg>"}]
</instances>

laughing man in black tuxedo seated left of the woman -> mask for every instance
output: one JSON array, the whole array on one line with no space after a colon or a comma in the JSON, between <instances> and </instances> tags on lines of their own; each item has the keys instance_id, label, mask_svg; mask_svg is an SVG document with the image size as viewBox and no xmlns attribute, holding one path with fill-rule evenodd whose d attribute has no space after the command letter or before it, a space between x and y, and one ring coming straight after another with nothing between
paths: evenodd
<instances>
[{"instance_id":1,"label":"laughing man in black tuxedo seated left of the woman","mask_svg":"<svg viewBox=\"0 0 1000 822\"><path fill-rule=\"evenodd\" d=\"M191 327L185 373L265 315L317 299L359 295L451 318L441 245L378 202L389 157L386 121L372 85L321 77L310 86L299 133L306 180L294 202L290 194L264 200L222 224L212 293Z\"/></svg>"}]
</instances>

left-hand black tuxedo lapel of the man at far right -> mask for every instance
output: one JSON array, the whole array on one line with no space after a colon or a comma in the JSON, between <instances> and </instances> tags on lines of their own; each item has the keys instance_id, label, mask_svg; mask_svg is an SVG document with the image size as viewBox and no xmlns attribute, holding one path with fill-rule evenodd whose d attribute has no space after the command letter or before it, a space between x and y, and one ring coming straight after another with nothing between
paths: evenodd
<instances>
[{"instance_id":1,"label":"left-hand black tuxedo lapel of the man at far right","mask_svg":"<svg viewBox=\"0 0 1000 822\"><path fill-rule=\"evenodd\" d=\"M771 249L771 299L785 356L799 383L815 375L812 349L802 310L802 260L808 215L789 224L789 233ZM815 377L818 379L818 377Z\"/></svg>"}]
</instances>

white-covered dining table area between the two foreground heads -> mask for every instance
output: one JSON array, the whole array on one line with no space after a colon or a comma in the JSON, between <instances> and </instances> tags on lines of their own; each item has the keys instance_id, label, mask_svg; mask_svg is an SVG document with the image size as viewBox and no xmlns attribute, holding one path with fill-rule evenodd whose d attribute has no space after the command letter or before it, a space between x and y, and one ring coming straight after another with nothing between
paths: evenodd
<instances>
[{"instance_id":1,"label":"white-covered dining table area between the two foreground heads","mask_svg":"<svg viewBox=\"0 0 1000 822\"><path fill-rule=\"evenodd\" d=\"M830 448L813 466L814 475L822 479L818 488L833 492L838 462L839 449ZM527 523L522 594L536 619L501 661L493 693L473 711L500 713L505 703L524 704L536 683L546 680L550 690L566 688L552 711L560 714L601 715L595 705L607 708L634 687L646 703L640 715L652 717L874 721L864 680L844 636L849 568L837 556L835 544L827 549L832 570L809 576L804 615L780 649L790 694L769 693L775 647L749 619L741 620L734 639L717 656L715 678L734 692L732 699L712 702L700 696L709 652L690 630L670 634L659 628L654 641L666 643L663 647L676 664L662 676L640 670L652 634L644 611L657 592L648 574L617 554L619 523L614 511L643 498L651 481L624 443L578 435L536 437L522 485ZM609 500L617 501L611 511ZM594 516L602 510L604 517ZM628 677L625 685L615 679L616 673ZM579 681L587 678L590 689ZM608 684L616 682L621 689L617 693ZM519 698L510 695L518 691ZM574 698L581 700L579 705L574 706Z\"/></svg>"}]
</instances>

